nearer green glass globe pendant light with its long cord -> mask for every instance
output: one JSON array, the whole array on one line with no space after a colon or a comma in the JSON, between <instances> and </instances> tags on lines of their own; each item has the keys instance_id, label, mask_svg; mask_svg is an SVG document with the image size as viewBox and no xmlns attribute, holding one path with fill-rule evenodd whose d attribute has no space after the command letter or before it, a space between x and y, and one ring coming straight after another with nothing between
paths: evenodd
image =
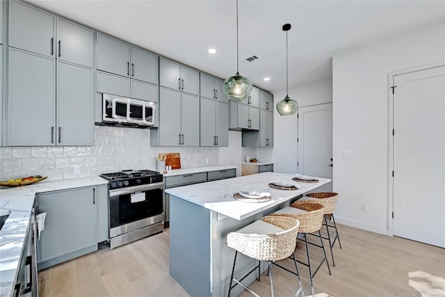
<instances>
[{"instance_id":1,"label":"nearer green glass globe pendant light with its long cord","mask_svg":"<svg viewBox=\"0 0 445 297\"><path fill-rule=\"evenodd\" d=\"M238 50L238 0L236 0L236 74L224 81L223 90L227 98L233 102L244 102L252 91L252 83L247 77L243 77L239 70Z\"/></svg>"}]
</instances>

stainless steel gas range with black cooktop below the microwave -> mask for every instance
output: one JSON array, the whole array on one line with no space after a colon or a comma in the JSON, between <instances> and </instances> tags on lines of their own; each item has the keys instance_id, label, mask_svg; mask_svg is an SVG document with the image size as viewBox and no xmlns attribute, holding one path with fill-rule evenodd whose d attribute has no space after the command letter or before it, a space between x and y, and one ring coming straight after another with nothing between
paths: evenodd
<instances>
[{"instance_id":1,"label":"stainless steel gas range with black cooktop below the microwave","mask_svg":"<svg viewBox=\"0 0 445 297\"><path fill-rule=\"evenodd\" d=\"M152 170L122 170L108 179L110 249L162 232L163 176Z\"/></svg>"}]
</instances>

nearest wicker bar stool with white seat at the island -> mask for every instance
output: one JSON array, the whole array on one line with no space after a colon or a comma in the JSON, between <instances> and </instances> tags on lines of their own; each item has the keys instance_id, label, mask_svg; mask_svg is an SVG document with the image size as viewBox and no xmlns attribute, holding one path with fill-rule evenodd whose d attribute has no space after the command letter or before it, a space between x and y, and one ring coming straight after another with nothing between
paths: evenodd
<instances>
[{"instance_id":1,"label":"nearest wicker bar stool with white seat at the island","mask_svg":"<svg viewBox=\"0 0 445 297\"><path fill-rule=\"evenodd\" d=\"M232 268L232 275L230 277L228 296L230 296L230 292L236 286L236 284L239 284L241 287L243 287L246 291L252 293L254 296L258 296L256 293L254 293L254 291L250 290L241 282L248 275L250 275L250 273L256 271L257 268L257 280L259 281L259 277L261 274L261 261L268 262L270 291L272 296L275 296L275 291L273 289L272 264L274 264L273 262L275 261L286 259L290 255L293 255L296 247L298 227L300 227L300 223L298 222L298 220L295 220L293 218L265 216L261 220L257 220L254 223L247 225L236 232L227 234L227 246L235 250L234 266ZM238 252L241 252L247 257L258 260L258 265L252 268L252 270L246 273L240 280L236 280L234 278L236 255L238 255ZM293 271L288 271L295 275L298 275L300 288L298 289L295 296L302 294L302 296L304 297L305 295L300 280L300 273L298 273L298 266L295 260L295 256L293 258L296 267L296 273L293 273ZM235 284L232 285L233 282L235 282Z\"/></svg>"}]
</instances>

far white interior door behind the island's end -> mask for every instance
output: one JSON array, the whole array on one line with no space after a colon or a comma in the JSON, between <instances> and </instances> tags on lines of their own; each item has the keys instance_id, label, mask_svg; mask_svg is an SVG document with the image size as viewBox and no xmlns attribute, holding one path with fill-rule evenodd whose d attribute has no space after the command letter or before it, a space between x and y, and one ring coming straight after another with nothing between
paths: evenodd
<instances>
[{"instance_id":1,"label":"far white interior door behind the island's end","mask_svg":"<svg viewBox=\"0 0 445 297\"><path fill-rule=\"evenodd\" d=\"M298 173L332 179L332 103L298 109Z\"/></svg>"}]
</instances>

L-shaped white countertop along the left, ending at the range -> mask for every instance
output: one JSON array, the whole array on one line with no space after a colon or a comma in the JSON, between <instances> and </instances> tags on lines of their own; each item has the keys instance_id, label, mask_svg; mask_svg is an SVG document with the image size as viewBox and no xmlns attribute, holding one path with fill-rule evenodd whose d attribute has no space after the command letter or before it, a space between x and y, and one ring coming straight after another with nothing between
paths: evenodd
<instances>
[{"instance_id":1,"label":"L-shaped white countertop along the left, ending at the range","mask_svg":"<svg viewBox=\"0 0 445 297\"><path fill-rule=\"evenodd\" d=\"M108 184L102 177L43 180L17 188L0 187L0 211L10 213L0 230L0 296L11 296L36 193Z\"/></svg>"}]
</instances>

